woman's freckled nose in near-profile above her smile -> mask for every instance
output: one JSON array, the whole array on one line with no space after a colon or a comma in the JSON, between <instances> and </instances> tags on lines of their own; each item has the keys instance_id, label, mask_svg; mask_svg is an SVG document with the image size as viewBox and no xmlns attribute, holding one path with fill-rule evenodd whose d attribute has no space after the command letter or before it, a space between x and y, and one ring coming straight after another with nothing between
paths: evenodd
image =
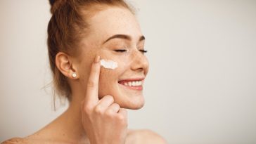
<instances>
[{"instance_id":1,"label":"woman's freckled nose in near-profile above her smile","mask_svg":"<svg viewBox=\"0 0 256 144\"><path fill-rule=\"evenodd\" d=\"M143 72L146 76L148 73L148 59L141 51L135 50L132 55L131 69L136 72Z\"/></svg>"}]
</instances>

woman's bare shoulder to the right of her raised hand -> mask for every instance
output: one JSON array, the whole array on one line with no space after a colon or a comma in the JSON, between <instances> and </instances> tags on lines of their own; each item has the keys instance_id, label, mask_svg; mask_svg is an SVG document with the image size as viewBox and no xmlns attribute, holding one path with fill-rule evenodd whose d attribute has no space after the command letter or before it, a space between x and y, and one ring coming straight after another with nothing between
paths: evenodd
<instances>
[{"instance_id":1,"label":"woman's bare shoulder to the right of her raised hand","mask_svg":"<svg viewBox=\"0 0 256 144\"><path fill-rule=\"evenodd\" d=\"M127 143L147 143L147 144L167 144L167 141L162 138L158 133L148 129L141 129L141 130L129 130L127 136Z\"/></svg>"}]
</instances>

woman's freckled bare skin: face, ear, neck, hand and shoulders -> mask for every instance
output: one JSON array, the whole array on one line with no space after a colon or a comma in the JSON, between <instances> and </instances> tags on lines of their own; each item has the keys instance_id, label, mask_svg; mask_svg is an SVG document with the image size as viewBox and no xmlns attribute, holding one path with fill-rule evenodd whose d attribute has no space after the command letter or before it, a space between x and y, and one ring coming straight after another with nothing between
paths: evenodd
<instances>
[{"instance_id":1,"label":"woman's freckled bare skin: face, ear, neck, hand and shoulders","mask_svg":"<svg viewBox=\"0 0 256 144\"><path fill-rule=\"evenodd\" d=\"M148 60L139 51L144 40L139 41L142 33L136 18L126 8L108 7L88 22L89 34L82 40L79 56L56 55L56 65L72 89L68 110L36 133L4 143L166 143L153 131L127 129L126 109L143 107L144 98L142 91L127 89L118 81L145 78L148 73ZM103 44L115 34L131 39L116 38ZM99 58L114 60L117 69L101 67ZM72 77L74 72L77 77Z\"/></svg>"}]
</instances>

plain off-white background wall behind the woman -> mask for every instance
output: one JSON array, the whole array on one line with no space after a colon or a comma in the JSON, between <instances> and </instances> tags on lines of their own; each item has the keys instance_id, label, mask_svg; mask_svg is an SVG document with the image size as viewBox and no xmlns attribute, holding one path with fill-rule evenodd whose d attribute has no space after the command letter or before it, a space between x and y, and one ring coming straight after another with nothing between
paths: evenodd
<instances>
[{"instance_id":1,"label":"plain off-white background wall behind the woman","mask_svg":"<svg viewBox=\"0 0 256 144\"><path fill-rule=\"evenodd\" d=\"M131 129L168 143L256 143L256 1L130 1L146 36L146 105ZM0 1L0 141L27 136L52 108L48 1ZM47 92L48 91L48 92Z\"/></svg>"}]
</instances>

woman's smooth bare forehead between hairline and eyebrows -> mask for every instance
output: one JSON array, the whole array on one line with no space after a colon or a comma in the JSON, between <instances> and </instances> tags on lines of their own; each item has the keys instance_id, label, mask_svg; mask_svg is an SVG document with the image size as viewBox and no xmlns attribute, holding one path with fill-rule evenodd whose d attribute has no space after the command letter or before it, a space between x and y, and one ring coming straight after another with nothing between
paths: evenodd
<instances>
[{"instance_id":1,"label":"woman's smooth bare forehead between hairline and eyebrows","mask_svg":"<svg viewBox=\"0 0 256 144\"><path fill-rule=\"evenodd\" d=\"M127 34L132 39L141 36L141 29L134 14L127 8L108 7L87 20L91 37L107 39L114 34Z\"/></svg>"}]
</instances>

